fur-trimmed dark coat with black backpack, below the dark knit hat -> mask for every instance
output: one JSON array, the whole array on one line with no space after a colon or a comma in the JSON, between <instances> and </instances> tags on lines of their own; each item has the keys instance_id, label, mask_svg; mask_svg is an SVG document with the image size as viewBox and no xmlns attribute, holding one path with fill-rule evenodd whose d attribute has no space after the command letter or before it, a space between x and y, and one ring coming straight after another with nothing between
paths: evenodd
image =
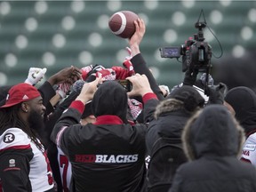
<instances>
[{"instance_id":1,"label":"fur-trimmed dark coat with black backpack, below the dark knit hat","mask_svg":"<svg viewBox=\"0 0 256 192\"><path fill-rule=\"evenodd\" d=\"M183 108L183 104L175 105L173 102L175 103L174 100L162 101L156 107L156 119L148 124L146 145L150 162L148 164L147 188L150 192L168 191L177 167L187 162L181 146L181 132L191 113ZM165 139L160 141L160 138L166 138L168 141ZM159 141L161 146L159 146ZM168 147L173 143L179 148ZM170 159L173 159L172 162Z\"/></svg>"}]
</instances>

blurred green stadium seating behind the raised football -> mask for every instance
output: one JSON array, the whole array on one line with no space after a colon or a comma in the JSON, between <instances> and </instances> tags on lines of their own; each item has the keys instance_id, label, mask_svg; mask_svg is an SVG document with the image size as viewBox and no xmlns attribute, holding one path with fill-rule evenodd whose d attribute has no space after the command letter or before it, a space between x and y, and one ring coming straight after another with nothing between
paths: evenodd
<instances>
[{"instance_id":1,"label":"blurred green stadium seating behind the raised football","mask_svg":"<svg viewBox=\"0 0 256 192\"><path fill-rule=\"evenodd\" d=\"M0 9L0 71L7 78L7 82L2 82L0 76L0 85L23 81L29 67L49 68L47 76L69 65L82 68L84 62L79 55L84 51L92 54L92 62L95 64L104 64L109 68L111 65L122 66L123 59L118 58L117 53L128 45L127 40L116 37L108 28L99 26L100 16L110 17L120 10L137 12L147 18L147 31L140 44L140 50L148 62L148 67L159 70L157 82L170 87L182 80L181 64L175 59L160 61L160 53L157 55L157 50L163 46L180 46L189 36L197 33L195 23L202 9L207 24L214 30L225 53L232 52L237 44L246 49L253 49L256 43L255 36L249 40L241 37L241 28L248 26L252 28L252 33L256 29L255 21L247 16L255 4L248 1L231 1L230 4L225 1L214 4L202 1L195 1L193 4L186 1L119 1L114 4L116 7L109 5L111 2L108 1L84 1L80 2L78 7L76 5L76 10L73 7L74 2L71 1L42 1L40 6L37 6L38 1L2 1L0 7L1 4L10 9L7 13L7 8ZM219 23L212 22L216 19L211 18L212 11L218 11L222 15ZM185 20L173 18L175 12L180 12ZM70 28L63 27L63 19L67 16L74 22L69 23ZM29 18L32 24L34 22L33 30L29 30L25 25ZM177 34L177 39L173 40L172 44L168 44L164 39L164 32L170 28ZM94 33L100 38L98 44L89 39ZM61 37L60 40L55 40L57 43L53 42L55 35ZM17 40L18 36L22 37L21 43ZM60 47L56 45L61 43L58 41L64 41ZM220 52L220 45L215 37L209 43L213 52ZM44 63L45 52L51 52L55 57L55 62L51 65ZM10 54L14 56L11 61L7 57Z\"/></svg>"}]
</instances>

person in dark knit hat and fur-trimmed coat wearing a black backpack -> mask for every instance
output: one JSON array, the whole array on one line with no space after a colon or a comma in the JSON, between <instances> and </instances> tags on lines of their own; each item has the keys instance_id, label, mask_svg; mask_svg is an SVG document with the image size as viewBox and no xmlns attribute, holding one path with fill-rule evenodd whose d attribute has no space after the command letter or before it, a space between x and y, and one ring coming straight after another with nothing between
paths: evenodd
<instances>
[{"instance_id":1,"label":"person in dark knit hat and fur-trimmed coat wearing a black backpack","mask_svg":"<svg viewBox=\"0 0 256 192\"><path fill-rule=\"evenodd\" d=\"M146 134L147 154L150 156L148 191L168 191L177 167L187 162L181 133L188 118L203 105L204 98L189 85L175 89L157 105L155 119L148 124Z\"/></svg>"}]
</instances>

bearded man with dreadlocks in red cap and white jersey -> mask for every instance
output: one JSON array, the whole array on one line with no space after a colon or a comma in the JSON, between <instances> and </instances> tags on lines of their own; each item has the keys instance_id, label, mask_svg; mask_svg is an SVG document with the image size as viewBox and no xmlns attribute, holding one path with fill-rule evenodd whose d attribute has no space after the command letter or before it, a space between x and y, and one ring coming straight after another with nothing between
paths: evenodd
<instances>
[{"instance_id":1,"label":"bearded man with dreadlocks in red cap and white jersey","mask_svg":"<svg viewBox=\"0 0 256 192\"><path fill-rule=\"evenodd\" d=\"M37 133L44 126L44 111L40 92L25 83L12 86L0 107L3 191L54 191L52 170Z\"/></svg>"}]
</instances>

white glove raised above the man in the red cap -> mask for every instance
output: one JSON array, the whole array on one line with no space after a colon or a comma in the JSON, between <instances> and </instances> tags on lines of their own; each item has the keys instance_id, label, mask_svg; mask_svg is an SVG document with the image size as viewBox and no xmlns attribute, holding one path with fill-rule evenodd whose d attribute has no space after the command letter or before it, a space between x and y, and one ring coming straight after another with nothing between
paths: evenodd
<instances>
[{"instance_id":1,"label":"white glove raised above the man in the red cap","mask_svg":"<svg viewBox=\"0 0 256 192\"><path fill-rule=\"evenodd\" d=\"M25 83L31 85L37 84L44 77L46 71L47 68L29 68Z\"/></svg>"}]
</instances>

